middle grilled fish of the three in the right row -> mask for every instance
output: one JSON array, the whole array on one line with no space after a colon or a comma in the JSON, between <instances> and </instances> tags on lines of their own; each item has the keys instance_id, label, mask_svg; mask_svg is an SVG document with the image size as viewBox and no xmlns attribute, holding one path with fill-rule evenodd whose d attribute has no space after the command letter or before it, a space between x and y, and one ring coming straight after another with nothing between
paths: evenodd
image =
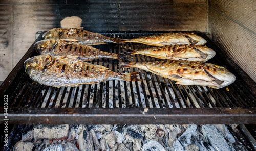
<instances>
[{"instance_id":1,"label":"middle grilled fish of the three in the right row","mask_svg":"<svg viewBox=\"0 0 256 151\"><path fill-rule=\"evenodd\" d=\"M135 51L125 51L127 55L141 54L159 59L207 61L215 56L215 51L202 45L168 45Z\"/></svg>"}]
</instances>

